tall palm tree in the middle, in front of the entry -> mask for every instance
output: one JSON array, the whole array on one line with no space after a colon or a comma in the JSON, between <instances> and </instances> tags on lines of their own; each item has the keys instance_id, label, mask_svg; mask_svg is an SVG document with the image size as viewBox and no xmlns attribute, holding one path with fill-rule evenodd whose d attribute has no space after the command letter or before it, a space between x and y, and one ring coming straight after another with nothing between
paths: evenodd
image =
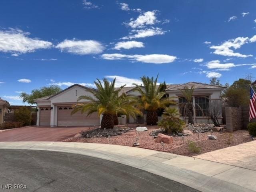
<instances>
[{"instance_id":1,"label":"tall palm tree in the middle, in front of the entry","mask_svg":"<svg viewBox=\"0 0 256 192\"><path fill-rule=\"evenodd\" d=\"M156 79L143 76L141 80L143 86L134 84L136 86L134 91L138 91L141 95L137 98L136 106L141 110L147 110L146 122L148 125L156 125L158 122L157 110L170 104L176 104L176 102L173 100L174 98L169 98L166 95L165 82L157 85L158 75Z\"/></svg>"}]
</instances>

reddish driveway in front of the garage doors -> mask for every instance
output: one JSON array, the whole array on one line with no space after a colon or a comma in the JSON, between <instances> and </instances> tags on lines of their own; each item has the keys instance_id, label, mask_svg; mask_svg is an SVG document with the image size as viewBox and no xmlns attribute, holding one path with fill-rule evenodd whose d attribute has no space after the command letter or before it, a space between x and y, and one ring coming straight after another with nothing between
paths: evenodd
<instances>
[{"instance_id":1,"label":"reddish driveway in front of the garage doors","mask_svg":"<svg viewBox=\"0 0 256 192\"><path fill-rule=\"evenodd\" d=\"M0 132L0 141L62 141L89 127L33 126Z\"/></svg>"}]
</instances>

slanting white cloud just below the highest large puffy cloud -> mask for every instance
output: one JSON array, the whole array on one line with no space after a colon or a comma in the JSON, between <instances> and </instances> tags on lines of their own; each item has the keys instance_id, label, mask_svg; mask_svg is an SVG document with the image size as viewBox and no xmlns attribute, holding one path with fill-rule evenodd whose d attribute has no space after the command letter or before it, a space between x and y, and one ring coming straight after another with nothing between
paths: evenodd
<instances>
[{"instance_id":1,"label":"slanting white cloud just below the highest large puffy cloud","mask_svg":"<svg viewBox=\"0 0 256 192\"><path fill-rule=\"evenodd\" d=\"M163 35L167 31L162 30L162 28L148 28L148 29L140 29L140 30L132 30L128 36L122 37L121 39L137 39L137 38L145 38L155 35Z\"/></svg>"}]
</instances>

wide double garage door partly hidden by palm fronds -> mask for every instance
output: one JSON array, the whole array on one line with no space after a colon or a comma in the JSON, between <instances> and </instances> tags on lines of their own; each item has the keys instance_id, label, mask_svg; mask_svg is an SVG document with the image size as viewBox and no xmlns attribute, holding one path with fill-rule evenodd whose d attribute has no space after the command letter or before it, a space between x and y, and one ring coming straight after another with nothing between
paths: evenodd
<instances>
[{"instance_id":1,"label":"wide double garage door partly hidden by palm fronds","mask_svg":"<svg viewBox=\"0 0 256 192\"><path fill-rule=\"evenodd\" d=\"M71 106L58 106L58 126L99 126L100 118L97 113L86 117L86 113L77 112L71 115Z\"/></svg>"}]
</instances>

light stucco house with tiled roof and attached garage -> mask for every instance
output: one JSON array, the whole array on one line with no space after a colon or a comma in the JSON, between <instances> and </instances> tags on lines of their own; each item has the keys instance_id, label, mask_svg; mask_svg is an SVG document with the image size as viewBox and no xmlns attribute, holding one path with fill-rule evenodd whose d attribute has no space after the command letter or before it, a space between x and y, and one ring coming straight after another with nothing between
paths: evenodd
<instances>
[{"instance_id":1,"label":"light stucco house with tiled roof and attached garage","mask_svg":"<svg viewBox=\"0 0 256 192\"><path fill-rule=\"evenodd\" d=\"M215 86L210 84L203 84L198 82L188 82L185 84L169 84L167 85L166 92L169 96L175 96L177 102L182 101L182 94L180 90L184 89L184 86L194 86L193 103L200 105L203 110L208 110L209 103L213 100L221 100L220 94L224 89L222 86ZM74 84L61 92L34 100L38 105L37 111L37 125L38 126L99 126L100 119L96 113L89 117L86 114L80 112L71 115L72 105L77 103L77 99L82 95L92 96L88 90L91 88ZM129 95L140 96L140 94L134 91L134 87L124 87L122 92ZM81 100L82 102L88 102L88 100ZM138 118L127 118L122 120L122 123L144 123L146 120L146 112L144 116L138 116ZM125 118L122 116L122 118ZM181 117L182 118L182 117ZM203 116L199 110L194 110L194 119L196 122L207 123L209 118ZM121 121L121 120L120 120ZM221 121L221 119L220 119Z\"/></svg>"}]
</instances>

